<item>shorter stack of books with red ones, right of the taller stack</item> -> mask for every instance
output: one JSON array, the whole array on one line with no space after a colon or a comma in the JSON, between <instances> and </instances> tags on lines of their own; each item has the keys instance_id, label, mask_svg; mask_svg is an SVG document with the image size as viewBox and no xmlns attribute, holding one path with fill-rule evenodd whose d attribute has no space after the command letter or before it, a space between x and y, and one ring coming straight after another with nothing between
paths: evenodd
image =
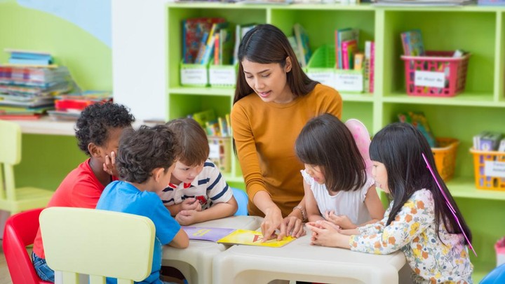
<instances>
[{"instance_id":1,"label":"shorter stack of books with red ones, right of the taller stack","mask_svg":"<svg viewBox=\"0 0 505 284\"><path fill-rule=\"evenodd\" d=\"M62 94L55 97L55 110L48 111L53 120L77 120L86 106L112 102L112 93L107 91L84 91Z\"/></svg>"}]
</instances>

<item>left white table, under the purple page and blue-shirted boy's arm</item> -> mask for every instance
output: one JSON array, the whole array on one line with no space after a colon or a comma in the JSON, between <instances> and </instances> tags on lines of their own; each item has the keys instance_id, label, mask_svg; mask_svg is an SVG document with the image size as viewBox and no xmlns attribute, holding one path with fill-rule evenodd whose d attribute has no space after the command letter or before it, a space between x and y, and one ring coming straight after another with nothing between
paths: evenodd
<instances>
[{"instance_id":1,"label":"left white table, under the purple page and blue-shirted boy's arm","mask_svg":"<svg viewBox=\"0 0 505 284\"><path fill-rule=\"evenodd\" d=\"M257 216L231 216L191 226L255 230L262 220ZM210 241L189 241L189 247L182 250L164 246L162 265L181 271L188 283L212 283L213 259L227 248L229 246Z\"/></svg>"}]
</instances>

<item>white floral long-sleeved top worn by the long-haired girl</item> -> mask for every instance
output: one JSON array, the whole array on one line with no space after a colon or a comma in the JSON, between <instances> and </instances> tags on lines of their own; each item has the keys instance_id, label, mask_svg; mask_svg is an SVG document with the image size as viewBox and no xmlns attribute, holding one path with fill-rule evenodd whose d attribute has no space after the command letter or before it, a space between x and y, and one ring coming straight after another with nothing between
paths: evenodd
<instances>
[{"instance_id":1,"label":"white floral long-sleeved top worn by the long-haired girl","mask_svg":"<svg viewBox=\"0 0 505 284\"><path fill-rule=\"evenodd\" d=\"M415 283L472 283L473 265L464 246L464 236L450 234L440 224L440 241L429 190L412 194L395 220L385 226L391 206L392 202L380 222L358 227L361 235L351 236L351 250L377 255L402 250L414 272Z\"/></svg>"}]
</instances>

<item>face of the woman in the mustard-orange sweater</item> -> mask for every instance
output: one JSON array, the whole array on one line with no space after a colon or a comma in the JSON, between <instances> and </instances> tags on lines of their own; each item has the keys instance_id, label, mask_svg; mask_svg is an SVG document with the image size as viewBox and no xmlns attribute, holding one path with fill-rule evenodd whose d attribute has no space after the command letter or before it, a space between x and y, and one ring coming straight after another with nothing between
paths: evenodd
<instances>
[{"instance_id":1,"label":"face of the woman in the mustard-orange sweater","mask_svg":"<svg viewBox=\"0 0 505 284\"><path fill-rule=\"evenodd\" d=\"M288 57L284 68L281 64L261 64L242 61L245 80L260 99L264 102L274 101L278 104L286 104L293 100L290 87L287 84L286 73L291 71L291 61Z\"/></svg>"}]
</instances>

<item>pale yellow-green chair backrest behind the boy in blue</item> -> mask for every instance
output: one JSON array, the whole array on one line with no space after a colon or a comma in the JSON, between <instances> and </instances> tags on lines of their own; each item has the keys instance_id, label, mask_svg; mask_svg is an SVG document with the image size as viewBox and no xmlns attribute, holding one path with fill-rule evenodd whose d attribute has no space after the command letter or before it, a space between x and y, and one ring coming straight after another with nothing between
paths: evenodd
<instances>
[{"instance_id":1,"label":"pale yellow-green chair backrest behind the boy in blue","mask_svg":"<svg viewBox=\"0 0 505 284\"><path fill-rule=\"evenodd\" d=\"M55 283L79 283L78 274L87 274L91 284L105 283L105 276L126 284L143 281L151 274L155 228L149 218L50 207L42 211L40 226Z\"/></svg>"}]
</instances>

